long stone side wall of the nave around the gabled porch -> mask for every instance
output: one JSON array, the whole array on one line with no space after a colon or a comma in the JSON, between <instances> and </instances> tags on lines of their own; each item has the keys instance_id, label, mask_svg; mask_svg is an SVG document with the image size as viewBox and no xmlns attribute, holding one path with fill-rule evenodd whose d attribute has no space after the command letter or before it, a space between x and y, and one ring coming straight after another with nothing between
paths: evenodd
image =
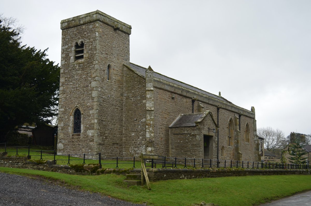
<instances>
[{"instance_id":1,"label":"long stone side wall of the nave around the gabled porch","mask_svg":"<svg viewBox=\"0 0 311 206\"><path fill-rule=\"evenodd\" d=\"M172 98L174 96L174 98ZM193 95L195 96L195 95ZM198 103L201 103L200 105ZM203 110L210 110L217 123L217 106L207 104L203 101L196 100L194 103L194 113L199 112L199 108L203 106ZM155 147L156 151L162 155L168 155L168 126L177 118L179 114L192 113L192 98L184 95L177 94L155 87ZM246 115L240 116L241 132L237 130L239 125L234 125L235 136L234 144L236 147L228 146L228 123L231 118L233 123L236 122L235 118L239 113L233 112L226 108L219 110L219 158L223 160L234 160L238 152L242 153L242 160L244 161L257 161L256 154L258 153L257 139L254 137L253 118ZM238 120L238 119L237 119ZM245 142L244 133L246 123L249 126L249 143ZM214 128L214 127L213 127ZM239 133L239 138L238 138ZM217 135L217 134L216 134ZM217 159L217 136L213 140L213 155ZM239 141L238 141L239 140ZM237 145L238 144L238 145ZM202 144L203 145L203 144ZM221 147L224 146L224 155L221 156ZM238 146L238 147L237 147ZM199 145L199 147L201 147ZM239 151L237 151L239 149ZM256 153L257 152L257 153ZM182 153L180 154L182 155ZM178 156L180 156L178 155Z\"/></svg>"}]
</instances>

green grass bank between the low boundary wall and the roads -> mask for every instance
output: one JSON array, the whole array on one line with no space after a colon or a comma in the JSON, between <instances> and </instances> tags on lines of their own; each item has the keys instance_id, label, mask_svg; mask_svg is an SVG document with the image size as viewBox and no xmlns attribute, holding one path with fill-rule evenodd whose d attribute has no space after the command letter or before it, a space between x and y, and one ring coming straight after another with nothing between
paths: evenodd
<instances>
[{"instance_id":1,"label":"green grass bank between the low boundary wall and the roads","mask_svg":"<svg viewBox=\"0 0 311 206\"><path fill-rule=\"evenodd\" d=\"M256 205L311 190L309 175L272 175L165 180L151 182L151 190L128 186L125 176L78 176L57 172L0 167L0 172L43 176L69 186L148 205L191 205L202 201L219 205Z\"/></svg>"}]
</instances>

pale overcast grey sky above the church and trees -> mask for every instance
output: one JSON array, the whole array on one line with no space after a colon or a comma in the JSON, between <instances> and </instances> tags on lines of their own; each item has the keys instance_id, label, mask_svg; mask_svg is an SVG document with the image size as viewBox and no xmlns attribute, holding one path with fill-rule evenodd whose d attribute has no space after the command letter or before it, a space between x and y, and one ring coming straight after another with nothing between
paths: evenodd
<instances>
[{"instance_id":1,"label":"pale overcast grey sky above the church and trees","mask_svg":"<svg viewBox=\"0 0 311 206\"><path fill-rule=\"evenodd\" d=\"M1 0L0 13L60 63L60 21L95 10L132 26L132 63L254 106L257 128L311 133L311 1Z\"/></svg>"}]
</instances>

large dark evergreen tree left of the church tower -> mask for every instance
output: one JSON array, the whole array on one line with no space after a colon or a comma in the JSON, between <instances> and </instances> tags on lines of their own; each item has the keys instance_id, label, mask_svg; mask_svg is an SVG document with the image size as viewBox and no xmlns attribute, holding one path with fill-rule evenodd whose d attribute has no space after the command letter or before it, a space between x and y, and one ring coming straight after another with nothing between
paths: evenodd
<instances>
[{"instance_id":1,"label":"large dark evergreen tree left of the church tower","mask_svg":"<svg viewBox=\"0 0 311 206\"><path fill-rule=\"evenodd\" d=\"M47 49L20 40L18 30L0 18L0 143L16 126L57 114L59 67L46 58Z\"/></svg>"}]
</instances>

